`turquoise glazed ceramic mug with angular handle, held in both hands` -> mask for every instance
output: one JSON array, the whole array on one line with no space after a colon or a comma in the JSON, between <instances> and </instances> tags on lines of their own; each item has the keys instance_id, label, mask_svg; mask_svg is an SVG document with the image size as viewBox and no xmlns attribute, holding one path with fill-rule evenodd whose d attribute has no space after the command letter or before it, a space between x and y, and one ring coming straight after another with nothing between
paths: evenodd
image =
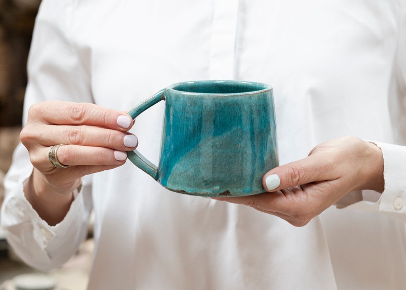
<instances>
[{"instance_id":1,"label":"turquoise glazed ceramic mug with angular handle, held in both hands","mask_svg":"<svg viewBox=\"0 0 406 290\"><path fill-rule=\"evenodd\" d=\"M165 100L159 165L137 151L128 159L169 190L200 196L262 193L278 166L272 87L233 80L172 84L134 107L135 119Z\"/></svg>"}]
</instances>

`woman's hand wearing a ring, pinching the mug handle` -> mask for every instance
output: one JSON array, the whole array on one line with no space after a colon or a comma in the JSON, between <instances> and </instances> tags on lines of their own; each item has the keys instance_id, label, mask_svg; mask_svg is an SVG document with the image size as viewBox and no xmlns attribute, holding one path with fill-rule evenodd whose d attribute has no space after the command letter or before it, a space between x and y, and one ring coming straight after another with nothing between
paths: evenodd
<instances>
[{"instance_id":1,"label":"woman's hand wearing a ring, pinching the mug handle","mask_svg":"<svg viewBox=\"0 0 406 290\"><path fill-rule=\"evenodd\" d=\"M138 145L137 137L126 132L132 124L127 114L90 103L33 105L20 140L34 166L25 194L38 214L51 224L60 221L82 176L123 165L126 151ZM56 158L67 168L56 168L49 160L48 153L57 144L66 144L58 148ZM56 220L50 217L58 209L51 207L62 212Z\"/></svg>"}]
</instances>

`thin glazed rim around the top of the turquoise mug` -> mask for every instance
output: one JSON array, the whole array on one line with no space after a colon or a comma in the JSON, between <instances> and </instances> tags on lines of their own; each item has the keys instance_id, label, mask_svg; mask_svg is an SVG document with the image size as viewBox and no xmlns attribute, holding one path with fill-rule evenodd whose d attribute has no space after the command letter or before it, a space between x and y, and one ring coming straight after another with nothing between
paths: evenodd
<instances>
[{"instance_id":1,"label":"thin glazed rim around the top of the turquoise mug","mask_svg":"<svg viewBox=\"0 0 406 290\"><path fill-rule=\"evenodd\" d=\"M181 91L176 90L177 86L180 85L192 85L192 84L214 84L214 83L229 83L229 84L245 84L245 85L253 85L253 86L262 86L261 90L252 90L252 91L245 91L240 93L204 93L204 92L188 92L188 91ZM175 91L181 94L186 95L221 95L221 96L239 96L239 95L251 95L251 94L258 94L263 93L266 91L273 90L273 86L263 82L254 82L254 81L241 81L241 80L195 80L195 81L184 81L184 82L177 82L174 84L169 85L166 90Z\"/></svg>"}]
</instances>

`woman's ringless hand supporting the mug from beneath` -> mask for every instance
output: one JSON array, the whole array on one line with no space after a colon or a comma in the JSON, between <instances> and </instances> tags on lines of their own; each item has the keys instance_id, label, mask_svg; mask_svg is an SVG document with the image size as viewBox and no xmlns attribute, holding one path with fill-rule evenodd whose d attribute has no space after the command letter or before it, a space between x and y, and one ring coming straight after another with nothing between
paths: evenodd
<instances>
[{"instance_id":1,"label":"woman's ringless hand supporting the mug from beneath","mask_svg":"<svg viewBox=\"0 0 406 290\"><path fill-rule=\"evenodd\" d=\"M352 190L382 192L382 152L355 137L328 141L314 147L307 158L267 172L263 187L270 193L215 199L251 206L304 226Z\"/></svg>"}]
</instances>

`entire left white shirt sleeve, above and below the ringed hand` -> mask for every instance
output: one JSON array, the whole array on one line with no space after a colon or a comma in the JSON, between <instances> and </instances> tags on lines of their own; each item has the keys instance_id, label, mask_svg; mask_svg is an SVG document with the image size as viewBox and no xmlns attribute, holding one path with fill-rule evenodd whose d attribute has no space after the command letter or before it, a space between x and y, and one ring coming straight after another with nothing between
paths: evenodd
<instances>
[{"instance_id":1,"label":"entire left white shirt sleeve, above and below the ringed hand","mask_svg":"<svg viewBox=\"0 0 406 290\"><path fill-rule=\"evenodd\" d=\"M88 72L70 39L70 1L43 0L36 18L28 61L23 125L28 108L44 100L93 102ZM5 178L5 200L0 222L17 255L40 270L50 270L69 259L87 233L92 210L91 178L82 180L81 192L65 218L56 226L42 220L25 198L24 184L32 172L29 154L19 144Z\"/></svg>"}]
</instances>

